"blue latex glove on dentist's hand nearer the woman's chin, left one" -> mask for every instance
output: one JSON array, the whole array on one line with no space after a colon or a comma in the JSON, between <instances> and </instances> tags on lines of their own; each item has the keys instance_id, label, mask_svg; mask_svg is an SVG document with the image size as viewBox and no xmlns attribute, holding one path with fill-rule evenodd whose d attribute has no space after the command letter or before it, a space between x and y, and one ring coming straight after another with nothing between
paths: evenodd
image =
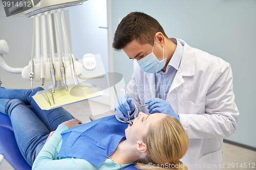
<instances>
[{"instance_id":1,"label":"blue latex glove on dentist's hand nearer the woman's chin, left one","mask_svg":"<svg viewBox=\"0 0 256 170\"><path fill-rule=\"evenodd\" d=\"M127 103L127 101L128 101L128 103ZM127 101L125 98L125 94L123 94L119 97L119 99L115 103L115 109L121 118L124 118L124 116L128 118L127 111L129 111L129 113L131 115L135 110L135 105L134 105L133 99L130 98L130 96L128 94L127 94Z\"/></svg>"}]
</instances>

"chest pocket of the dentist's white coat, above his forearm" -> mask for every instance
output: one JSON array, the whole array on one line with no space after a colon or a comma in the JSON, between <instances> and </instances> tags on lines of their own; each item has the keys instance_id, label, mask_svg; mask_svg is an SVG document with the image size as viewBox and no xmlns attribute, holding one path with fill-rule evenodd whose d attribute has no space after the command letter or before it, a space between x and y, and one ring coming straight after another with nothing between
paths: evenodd
<instances>
[{"instance_id":1,"label":"chest pocket of the dentist's white coat, above his forearm","mask_svg":"<svg viewBox=\"0 0 256 170\"><path fill-rule=\"evenodd\" d=\"M195 104L191 101L181 101L181 113L182 114L201 114L205 113L204 102L201 104Z\"/></svg>"}]
</instances>

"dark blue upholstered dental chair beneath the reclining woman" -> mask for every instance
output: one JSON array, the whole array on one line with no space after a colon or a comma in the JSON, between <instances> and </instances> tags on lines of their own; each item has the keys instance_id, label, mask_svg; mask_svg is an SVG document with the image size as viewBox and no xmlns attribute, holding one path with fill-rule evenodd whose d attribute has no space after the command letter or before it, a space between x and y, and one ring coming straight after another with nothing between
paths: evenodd
<instances>
[{"instance_id":1,"label":"dark blue upholstered dental chair beneath the reclining woman","mask_svg":"<svg viewBox=\"0 0 256 170\"><path fill-rule=\"evenodd\" d=\"M37 114L31 106L28 107ZM0 113L0 134L0 169L4 156L14 169L31 170L31 166L25 161L22 154L19 152L9 116L2 113ZM125 169L135 170L137 168L135 168L134 165L131 165Z\"/></svg>"}]
</instances>

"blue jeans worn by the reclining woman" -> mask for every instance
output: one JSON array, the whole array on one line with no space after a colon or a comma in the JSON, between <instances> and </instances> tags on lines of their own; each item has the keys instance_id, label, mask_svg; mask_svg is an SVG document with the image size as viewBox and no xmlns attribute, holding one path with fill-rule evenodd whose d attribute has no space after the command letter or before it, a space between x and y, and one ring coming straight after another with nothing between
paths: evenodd
<instances>
[{"instance_id":1,"label":"blue jeans worn by the reclining woman","mask_svg":"<svg viewBox=\"0 0 256 170\"><path fill-rule=\"evenodd\" d=\"M41 110L32 99L34 92L24 89L5 89L0 87L0 112L9 115L20 153L32 166L36 156L45 144L51 131L59 124L72 119L62 107L52 110ZM36 114L27 107L31 105Z\"/></svg>"}]
</instances>

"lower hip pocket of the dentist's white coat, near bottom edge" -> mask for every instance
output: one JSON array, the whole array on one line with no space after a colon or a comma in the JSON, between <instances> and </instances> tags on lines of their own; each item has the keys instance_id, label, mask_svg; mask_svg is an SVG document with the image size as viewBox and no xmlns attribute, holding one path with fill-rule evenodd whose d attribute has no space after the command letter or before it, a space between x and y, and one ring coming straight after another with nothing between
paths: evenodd
<instances>
[{"instance_id":1,"label":"lower hip pocket of the dentist's white coat, near bottom edge","mask_svg":"<svg viewBox=\"0 0 256 170\"><path fill-rule=\"evenodd\" d=\"M203 169L221 169L220 165L222 163L222 149L217 152L212 152L206 154L199 158L198 166Z\"/></svg>"}]
</instances>

